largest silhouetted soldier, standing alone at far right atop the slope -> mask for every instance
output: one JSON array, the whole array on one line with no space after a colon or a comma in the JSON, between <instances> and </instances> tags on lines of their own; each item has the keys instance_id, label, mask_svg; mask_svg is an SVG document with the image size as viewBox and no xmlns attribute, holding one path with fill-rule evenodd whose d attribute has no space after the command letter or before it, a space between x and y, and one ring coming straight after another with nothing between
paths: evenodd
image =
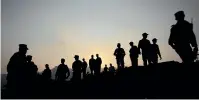
<instances>
[{"instance_id":1,"label":"largest silhouetted soldier, standing alone at far right atop the slope","mask_svg":"<svg viewBox=\"0 0 199 100\"><path fill-rule=\"evenodd\" d=\"M193 32L193 24L184 20L184 18L183 11L175 13L177 23L170 30L169 45L175 49L184 63L190 63L196 59L194 52L198 51L198 45ZM192 50L190 44L194 47L194 50Z\"/></svg>"}]
</instances>

